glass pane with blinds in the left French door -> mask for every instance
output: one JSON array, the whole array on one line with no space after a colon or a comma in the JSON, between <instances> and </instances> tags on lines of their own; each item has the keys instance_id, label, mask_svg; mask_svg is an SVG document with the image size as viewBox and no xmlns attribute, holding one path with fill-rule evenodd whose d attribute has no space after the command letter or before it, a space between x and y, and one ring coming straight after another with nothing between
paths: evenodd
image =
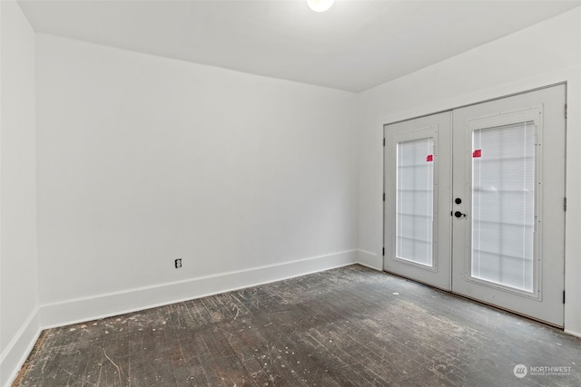
<instances>
[{"instance_id":1,"label":"glass pane with blinds in the left French door","mask_svg":"<svg viewBox=\"0 0 581 387\"><path fill-rule=\"evenodd\" d=\"M398 143L396 256L432 266L434 140Z\"/></svg>"}]
</instances>

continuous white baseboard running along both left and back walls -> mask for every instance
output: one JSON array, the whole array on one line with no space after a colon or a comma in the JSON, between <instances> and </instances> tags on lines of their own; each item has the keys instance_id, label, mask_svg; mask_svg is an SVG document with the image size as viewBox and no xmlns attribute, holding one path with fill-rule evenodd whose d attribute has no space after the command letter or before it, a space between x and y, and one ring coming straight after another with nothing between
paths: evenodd
<instances>
[{"instance_id":1,"label":"continuous white baseboard running along both left and back walls","mask_svg":"<svg viewBox=\"0 0 581 387\"><path fill-rule=\"evenodd\" d=\"M0 375L2 375L0 386L8 387L15 380L43 329L170 305L357 263L375 268L373 259L361 259L361 251L353 249L276 265L251 267L169 284L41 305L29 316L15 339L0 356Z\"/></svg>"}]
</instances>

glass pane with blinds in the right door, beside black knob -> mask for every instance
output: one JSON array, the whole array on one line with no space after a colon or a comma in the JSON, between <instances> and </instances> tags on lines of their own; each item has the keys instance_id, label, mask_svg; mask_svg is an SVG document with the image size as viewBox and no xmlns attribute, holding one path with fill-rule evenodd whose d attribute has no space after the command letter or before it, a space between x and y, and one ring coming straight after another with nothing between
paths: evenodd
<instances>
[{"instance_id":1,"label":"glass pane with blinds in the right door, beside black knob","mask_svg":"<svg viewBox=\"0 0 581 387\"><path fill-rule=\"evenodd\" d=\"M472 137L472 276L533 291L535 126Z\"/></svg>"}]
</instances>

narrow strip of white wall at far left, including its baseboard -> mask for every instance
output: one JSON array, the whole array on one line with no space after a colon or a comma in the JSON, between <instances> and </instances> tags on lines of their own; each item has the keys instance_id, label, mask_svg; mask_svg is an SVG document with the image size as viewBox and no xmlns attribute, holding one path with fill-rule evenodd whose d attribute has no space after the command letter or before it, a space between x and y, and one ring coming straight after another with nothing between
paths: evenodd
<instances>
[{"instance_id":1,"label":"narrow strip of white wall at far left, including its baseboard","mask_svg":"<svg viewBox=\"0 0 581 387\"><path fill-rule=\"evenodd\" d=\"M34 31L0 2L0 385L38 334Z\"/></svg>"}]
</instances>

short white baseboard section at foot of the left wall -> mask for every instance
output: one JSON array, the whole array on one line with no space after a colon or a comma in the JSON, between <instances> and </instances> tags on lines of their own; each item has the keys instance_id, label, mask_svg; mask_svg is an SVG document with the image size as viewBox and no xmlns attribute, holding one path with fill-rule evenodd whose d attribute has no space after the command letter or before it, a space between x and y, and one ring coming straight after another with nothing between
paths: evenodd
<instances>
[{"instance_id":1,"label":"short white baseboard section at foot of the left wall","mask_svg":"<svg viewBox=\"0 0 581 387\"><path fill-rule=\"evenodd\" d=\"M25 320L5 350L0 354L0 386L9 387L14 382L34 343L41 333L39 309Z\"/></svg>"}]
</instances>

